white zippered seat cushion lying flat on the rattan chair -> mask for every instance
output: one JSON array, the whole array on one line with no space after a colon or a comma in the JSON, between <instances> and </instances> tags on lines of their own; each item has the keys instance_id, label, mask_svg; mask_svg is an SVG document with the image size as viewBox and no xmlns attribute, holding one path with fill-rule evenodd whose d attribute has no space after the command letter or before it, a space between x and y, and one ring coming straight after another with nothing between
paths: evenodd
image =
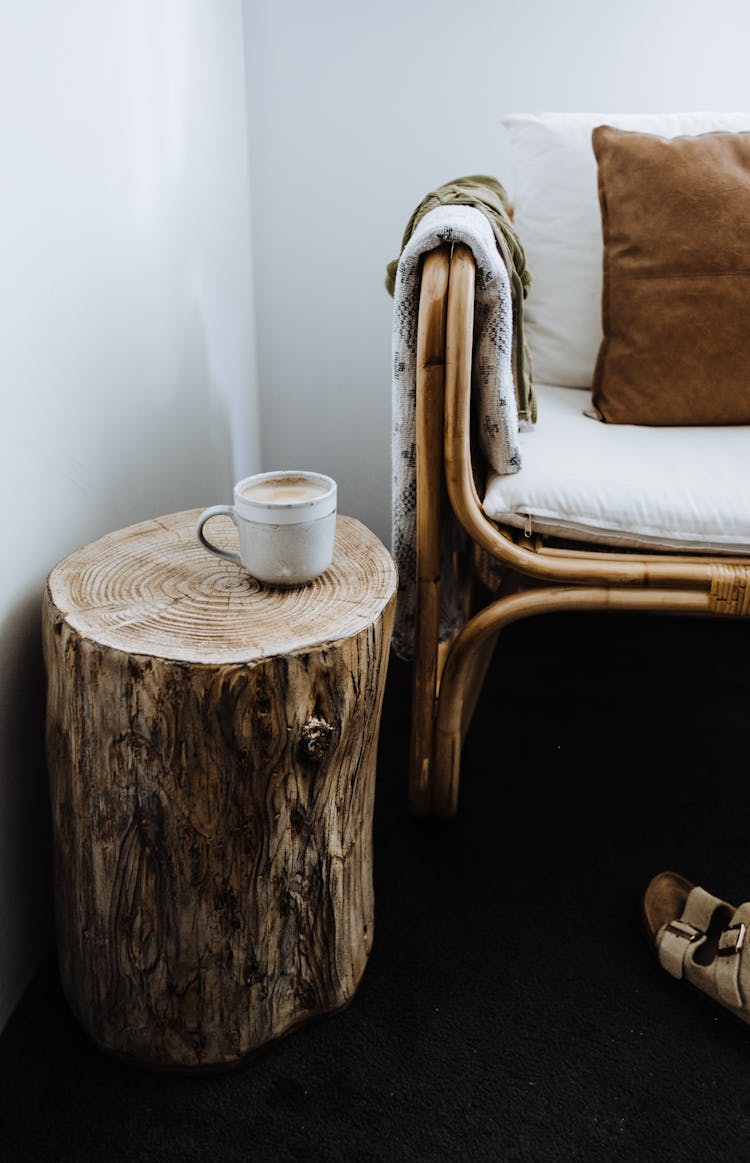
<instances>
[{"instance_id":1,"label":"white zippered seat cushion lying flat on the rattan chair","mask_svg":"<svg viewBox=\"0 0 750 1163\"><path fill-rule=\"evenodd\" d=\"M645 428L585 415L591 393L536 384L522 469L484 498L502 525L573 541L750 552L750 426Z\"/></svg>"}]
</instances>

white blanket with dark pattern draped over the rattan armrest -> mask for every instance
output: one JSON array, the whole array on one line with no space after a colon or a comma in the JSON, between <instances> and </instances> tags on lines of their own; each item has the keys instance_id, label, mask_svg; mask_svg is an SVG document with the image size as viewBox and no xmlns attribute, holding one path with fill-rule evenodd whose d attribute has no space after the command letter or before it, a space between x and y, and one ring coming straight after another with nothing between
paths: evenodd
<instances>
[{"instance_id":1,"label":"white blanket with dark pattern draped over the rattan armrest","mask_svg":"<svg viewBox=\"0 0 750 1163\"><path fill-rule=\"evenodd\" d=\"M415 401L420 258L443 243L458 242L473 251L477 266L472 406L481 450L497 472L517 472L521 468L508 270L487 216L480 209L473 206L441 206L424 215L403 248L393 293L391 536L399 571L399 593L392 648L405 659L413 657L416 613ZM464 623L452 555L466 543L465 534L448 506L444 506L443 527L441 640Z\"/></svg>"}]
</instances>

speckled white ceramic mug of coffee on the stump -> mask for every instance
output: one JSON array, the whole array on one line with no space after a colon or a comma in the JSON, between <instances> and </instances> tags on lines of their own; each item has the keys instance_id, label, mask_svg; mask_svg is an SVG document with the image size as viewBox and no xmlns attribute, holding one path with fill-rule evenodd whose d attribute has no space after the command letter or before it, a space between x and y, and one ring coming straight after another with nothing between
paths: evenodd
<instances>
[{"instance_id":1,"label":"speckled white ceramic mug of coffee on the stump","mask_svg":"<svg viewBox=\"0 0 750 1163\"><path fill-rule=\"evenodd\" d=\"M212 505L195 526L201 545L237 562L266 585L312 582L334 557L336 481L321 472L279 469L238 480L234 505ZM220 549L203 533L214 516L229 516L240 531L240 552Z\"/></svg>"}]
</instances>

